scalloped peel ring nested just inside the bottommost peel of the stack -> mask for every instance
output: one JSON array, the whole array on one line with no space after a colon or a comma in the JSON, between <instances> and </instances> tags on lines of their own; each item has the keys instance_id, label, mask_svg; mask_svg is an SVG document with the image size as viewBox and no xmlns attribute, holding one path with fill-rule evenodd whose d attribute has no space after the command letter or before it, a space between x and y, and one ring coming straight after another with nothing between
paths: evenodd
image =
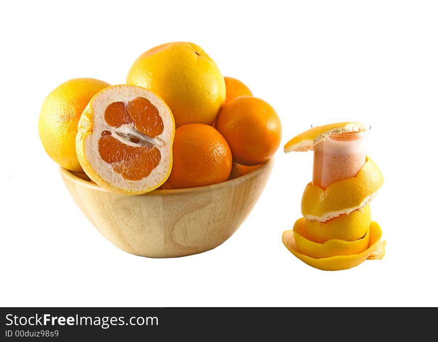
<instances>
[{"instance_id":1,"label":"scalloped peel ring nested just inside the bottommost peel of the stack","mask_svg":"<svg viewBox=\"0 0 438 342\"><path fill-rule=\"evenodd\" d=\"M294 224L294 239L297 250L306 256L313 258L325 258L330 256L347 256L365 251L369 245L369 229L360 239L355 241L343 241L331 239L323 244L314 242L309 238L306 231L306 219L298 219Z\"/></svg>"}]
</instances>

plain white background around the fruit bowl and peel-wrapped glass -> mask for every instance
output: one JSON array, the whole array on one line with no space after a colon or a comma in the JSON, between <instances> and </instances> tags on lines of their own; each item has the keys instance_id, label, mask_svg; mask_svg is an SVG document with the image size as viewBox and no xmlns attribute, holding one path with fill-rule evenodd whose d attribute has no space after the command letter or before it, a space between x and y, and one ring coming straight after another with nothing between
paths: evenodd
<instances>
[{"instance_id":1,"label":"plain white background around the fruit bowl and peel-wrapped glass","mask_svg":"<svg viewBox=\"0 0 438 342\"><path fill-rule=\"evenodd\" d=\"M437 306L437 18L434 1L3 1L0 305ZM98 233L39 141L41 103L72 78L123 83L142 52L178 40L274 106L282 146L319 120L372 125L383 260L328 272L287 251L312 153L282 146L215 250L149 259Z\"/></svg>"}]
</instances>

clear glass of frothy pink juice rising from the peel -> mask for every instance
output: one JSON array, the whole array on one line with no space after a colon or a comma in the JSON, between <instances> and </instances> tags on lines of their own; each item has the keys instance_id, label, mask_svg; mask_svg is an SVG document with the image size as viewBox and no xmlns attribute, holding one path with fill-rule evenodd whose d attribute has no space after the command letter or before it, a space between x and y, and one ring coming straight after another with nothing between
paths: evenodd
<instances>
[{"instance_id":1,"label":"clear glass of frothy pink juice rising from the peel","mask_svg":"<svg viewBox=\"0 0 438 342\"><path fill-rule=\"evenodd\" d=\"M313 124L312 127L319 126ZM312 184L326 189L331 184L355 177L366 160L370 125L360 132L330 134L314 147Z\"/></svg>"}]
</instances>

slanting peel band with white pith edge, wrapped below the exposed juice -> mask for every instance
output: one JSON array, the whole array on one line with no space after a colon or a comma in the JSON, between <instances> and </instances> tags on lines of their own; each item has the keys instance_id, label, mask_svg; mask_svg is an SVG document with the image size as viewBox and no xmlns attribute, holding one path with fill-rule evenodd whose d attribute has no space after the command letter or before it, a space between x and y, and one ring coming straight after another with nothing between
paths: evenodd
<instances>
[{"instance_id":1,"label":"slanting peel band with white pith edge, wrapped below the exposed juice","mask_svg":"<svg viewBox=\"0 0 438 342\"><path fill-rule=\"evenodd\" d=\"M369 158L357 176L340 180L322 189L307 184L301 200L301 212L307 220L325 222L349 214L367 205L383 184L383 175Z\"/></svg>"}]
</instances>

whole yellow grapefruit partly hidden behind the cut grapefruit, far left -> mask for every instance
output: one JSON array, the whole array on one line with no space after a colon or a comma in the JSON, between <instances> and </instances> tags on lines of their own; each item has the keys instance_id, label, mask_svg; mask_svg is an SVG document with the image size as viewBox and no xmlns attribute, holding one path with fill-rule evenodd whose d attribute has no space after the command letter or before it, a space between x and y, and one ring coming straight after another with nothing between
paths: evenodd
<instances>
[{"instance_id":1,"label":"whole yellow grapefruit partly hidden behind the cut grapefruit, far left","mask_svg":"<svg viewBox=\"0 0 438 342\"><path fill-rule=\"evenodd\" d=\"M82 171L75 150L78 121L93 95L107 86L96 79L74 79L59 85L44 100L39 137L50 158L63 168Z\"/></svg>"}]
</instances>

